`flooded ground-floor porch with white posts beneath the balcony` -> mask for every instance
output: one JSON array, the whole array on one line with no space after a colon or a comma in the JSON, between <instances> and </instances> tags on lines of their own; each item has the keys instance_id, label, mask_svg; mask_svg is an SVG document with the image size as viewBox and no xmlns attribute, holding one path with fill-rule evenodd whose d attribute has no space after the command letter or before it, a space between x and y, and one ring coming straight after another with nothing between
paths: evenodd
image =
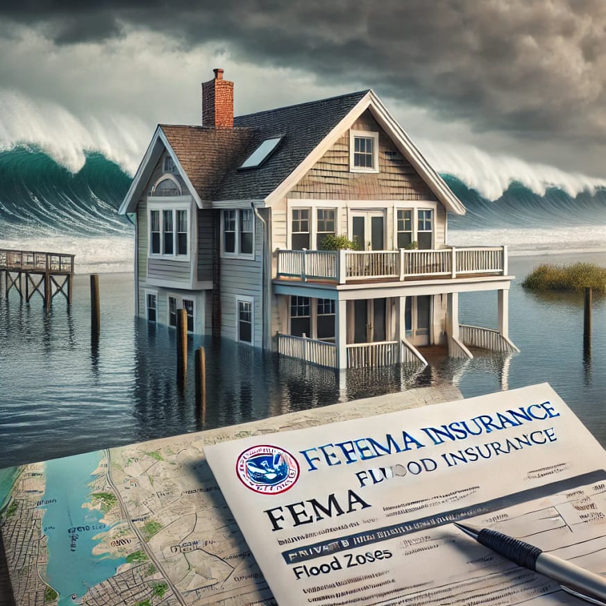
<instances>
[{"instance_id":1,"label":"flooded ground-floor porch with white posts beneath the balcony","mask_svg":"<svg viewBox=\"0 0 606 606\"><path fill-rule=\"evenodd\" d=\"M519 351L508 337L508 291L498 291L498 328L461 325L458 293L363 298L351 301L278 296L281 355L337 369L428 364L423 347L444 346L451 357L472 358L470 347Z\"/></svg>"}]
</instances>

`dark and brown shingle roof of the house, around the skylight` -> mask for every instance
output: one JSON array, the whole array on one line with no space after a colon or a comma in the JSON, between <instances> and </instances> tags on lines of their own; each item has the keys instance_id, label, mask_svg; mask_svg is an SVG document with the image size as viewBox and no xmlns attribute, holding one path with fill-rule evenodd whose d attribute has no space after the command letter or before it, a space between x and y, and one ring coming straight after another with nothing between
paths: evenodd
<instances>
[{"instance_id":1,"label":"dark and brown shingle roof of the house, around the skylight","mask_svg":"<svg viewBox=\"0 0 606 606\"><path fill-rule=\"evenodd\" d=\"M161 125L203 200L264 199L307 158L368 90L234 118L234 128ZM238 170L269 137L283 140L260 167Z\"/></svg>"}]
</instances>

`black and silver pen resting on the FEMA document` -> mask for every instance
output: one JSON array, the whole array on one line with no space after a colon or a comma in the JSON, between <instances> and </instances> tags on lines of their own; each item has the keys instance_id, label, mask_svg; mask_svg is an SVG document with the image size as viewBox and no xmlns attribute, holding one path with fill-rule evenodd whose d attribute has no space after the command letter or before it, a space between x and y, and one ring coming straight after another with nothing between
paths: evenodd
<instances>
[{"instance_id":1,"label":"black and silver pen resting on the FEMA document","mask_svg":"<svg viewBox=\"0 0 606 606\"><path fill-rule=\"evenodd\" d=\"M485 545L498 555L526 569L541 573L560 584L564 591L591 604L606 605L606 578L571 564L565 559L543 553L538 547L529 545L502 532L454 523L466 535Z\"/></svg>"}]
</instances>

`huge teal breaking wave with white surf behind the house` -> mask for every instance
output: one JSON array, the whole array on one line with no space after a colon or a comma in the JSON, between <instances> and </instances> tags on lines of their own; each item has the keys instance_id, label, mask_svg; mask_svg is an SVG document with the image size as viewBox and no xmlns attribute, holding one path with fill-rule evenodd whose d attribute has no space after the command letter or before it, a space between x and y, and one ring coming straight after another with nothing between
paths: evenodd
<instances>
[{"instance_id":1,"label":"huge teal breaking wave with white surf behind the house","mask_svg":"<svg viewBox=\"0 0 606 606\"><path fill-rule=\"evenodd\" d=\"M562 183L548 182L539 169L533 182L532 165L523 163L521 178L507 182L511 165L498 159L494 182L481 181L471 157L455 166L437 147L428 155L437 169L451 169L441 173L467 208L449 218L449 244L508 244L514 254L606 249L606 182L564 173ZM72 172L37 146L0 151L0 246L74 253L80 272L131 271L133 226L117 209L132 177L99 152L84 158ZM491 188L494 199L483 194Z\"/></svg>"}]
</instances>

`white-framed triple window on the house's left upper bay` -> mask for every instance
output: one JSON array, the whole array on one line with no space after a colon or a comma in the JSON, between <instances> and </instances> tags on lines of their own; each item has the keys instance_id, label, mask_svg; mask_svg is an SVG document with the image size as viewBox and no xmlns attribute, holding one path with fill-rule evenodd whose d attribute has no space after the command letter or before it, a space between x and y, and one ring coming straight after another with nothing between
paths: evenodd
<instances>
[{"instance_id":1,"label":"white-framed triple window on the house's left upper bay","mask_svg":"<svg viewBox=\"0 0 606 606\"><path fill-rule=\"evenodd\" d=\"M190 210L182 205L150 203L149 254L158 257L190 258Z\"/></svg>"}]
</instances>

